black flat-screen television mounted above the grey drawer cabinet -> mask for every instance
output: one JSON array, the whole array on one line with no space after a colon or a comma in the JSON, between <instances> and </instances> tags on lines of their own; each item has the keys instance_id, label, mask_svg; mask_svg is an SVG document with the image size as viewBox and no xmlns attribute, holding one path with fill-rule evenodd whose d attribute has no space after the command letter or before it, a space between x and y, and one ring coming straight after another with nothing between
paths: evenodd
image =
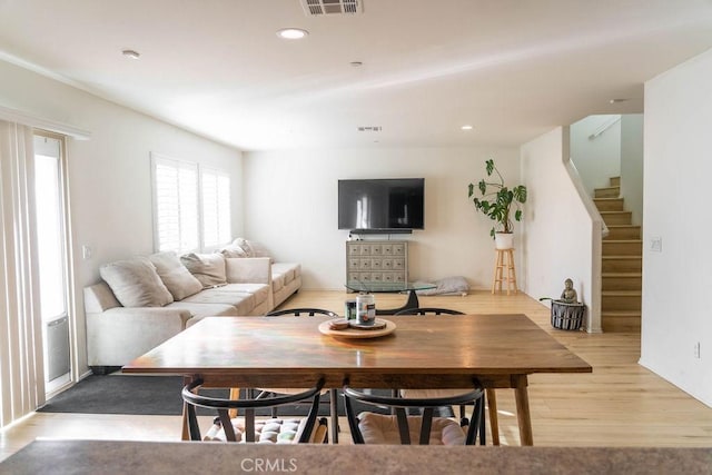
<instances>
[{"instance_id":1,"label":"black flat-screen television mounted above the grey drawer cabinet","mask_svg":"<svg viewBox=\"0 0 712 475\"><path fill-rule=\"evenodd\" d=\"M338 180L338 228L423 229L424 178Z\"/></svg>"}]
</instances>

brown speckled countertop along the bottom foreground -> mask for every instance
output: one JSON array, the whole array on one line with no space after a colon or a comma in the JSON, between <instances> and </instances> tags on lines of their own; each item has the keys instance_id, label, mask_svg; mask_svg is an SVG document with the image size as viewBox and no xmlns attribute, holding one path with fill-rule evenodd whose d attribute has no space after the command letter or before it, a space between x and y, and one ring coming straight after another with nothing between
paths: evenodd
<instances>
[{"instance_id":1,"label":"brown speckled countertop along the bottom foreground","mask_svg":"<svg viewBox=\"0 0 712 475\"><path fill-rule=\"evenodd\" d=\"M0 474L712 474L712 448L36 441Z\"/></svg>"}]
</instances>

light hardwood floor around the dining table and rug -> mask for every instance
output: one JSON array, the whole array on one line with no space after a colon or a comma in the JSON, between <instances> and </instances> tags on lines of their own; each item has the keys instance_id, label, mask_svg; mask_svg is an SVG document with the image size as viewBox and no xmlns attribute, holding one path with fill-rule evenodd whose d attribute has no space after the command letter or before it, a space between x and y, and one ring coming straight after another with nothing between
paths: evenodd
<instances>
[{"instance_id":1,"label":"light hardwood floor around the dining table and rug","mask_svg":"<svg viewBox=\"0 0 712 475\"><path fill-rule=\"evenodd\" d=\"M300 290L284 307L320 307L343 314L344 291ZM380 308L403 295L376 295ZM712 446L712 408L637 364L640 333L590 335L552 328L548 308L524 294L422 297L422 306L469 314L526 314L593 366L593 374L534 375L530 406L540 446ZM497 390L503 445L518 445L512 390ZM340 443L350 443L342 423ZM38 413L0 434L0 459L37 437L178 441L178 416L116 416Z\"/></svg>"}]
</instances>

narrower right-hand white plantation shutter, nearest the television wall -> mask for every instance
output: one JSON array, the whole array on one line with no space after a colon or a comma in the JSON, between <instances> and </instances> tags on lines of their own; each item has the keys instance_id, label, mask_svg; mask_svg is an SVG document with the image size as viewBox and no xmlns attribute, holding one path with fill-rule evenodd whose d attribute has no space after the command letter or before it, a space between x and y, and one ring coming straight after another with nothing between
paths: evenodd
<instances>
[{"instance_id":1,"label":"narrower right-hand white plantation shutter, nearest the television wall","mask_svg":"<svg viewBox=\"0 0 712 475\"><path fill-rule=\"evenodd\" d=\"M220 170L200 169L202 198L202 247L230 241L230 178Z\"/></svg>"}]
</instances>

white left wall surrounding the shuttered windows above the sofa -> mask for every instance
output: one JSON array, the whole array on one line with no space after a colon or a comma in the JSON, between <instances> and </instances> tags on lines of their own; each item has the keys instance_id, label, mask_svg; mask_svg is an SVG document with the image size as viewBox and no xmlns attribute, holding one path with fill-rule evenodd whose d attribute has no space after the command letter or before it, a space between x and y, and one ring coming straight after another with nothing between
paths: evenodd
<instances>
[{"instance_id":1,"label":"white left wall surrounding the shuttered windows above the sofa","mask_svg":"<svg viewBox=\"0 0 712 475\"><path fill-rule=\"evenodd\" d=\"M99 266L154 251L150 152L190 159L231 172L235 234L241 232L240 152L0 61L0 105L91 132L68 140L69 199L76 286L78 368L86 368L82 288ZM91 247L89 260L81 246Z\"/></svg>"}]
</instances>

